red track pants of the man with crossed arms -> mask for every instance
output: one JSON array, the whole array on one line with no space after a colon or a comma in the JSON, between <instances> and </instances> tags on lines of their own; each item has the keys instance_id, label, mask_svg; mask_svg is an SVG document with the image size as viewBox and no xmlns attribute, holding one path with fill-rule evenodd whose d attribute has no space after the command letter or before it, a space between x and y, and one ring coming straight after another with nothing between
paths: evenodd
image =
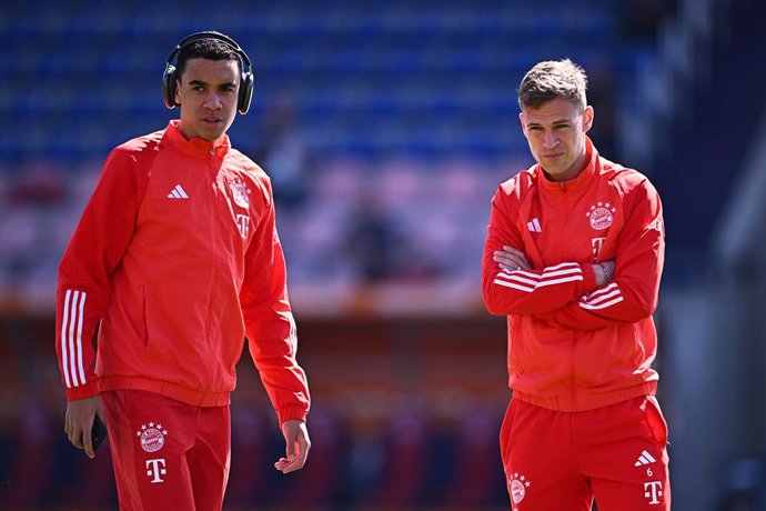
<instances>
[{"instance_id":1,"label":"red track pants of the man with crossed arms","mask_svg":"<svg viewBox=\"0 0 766 511\"><path fill-rule=\"evenodd\" d=\"M582 412L512 399L501 453L515 511L669 510L667 427L654 397Z\"/></svg>"}]
</instances>

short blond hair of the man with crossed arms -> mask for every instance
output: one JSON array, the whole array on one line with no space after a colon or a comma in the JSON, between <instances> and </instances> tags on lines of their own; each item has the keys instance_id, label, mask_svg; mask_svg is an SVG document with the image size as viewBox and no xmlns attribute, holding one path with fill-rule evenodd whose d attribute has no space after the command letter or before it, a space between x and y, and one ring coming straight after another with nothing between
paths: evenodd
<instances>
[{"instance_id":1,"label":"short blond hair of the man with crossed arms","mask_svg":"<svg viewBox=\"0 0 766 511\"><path fill-rule=\"evenodd\" d=\"M564 98L581 112L587 107L587 77L583 68L570 59L546 60L532 68L518 86L518 107L538 108L556 98Z\"/></svg>"}]
</instances>

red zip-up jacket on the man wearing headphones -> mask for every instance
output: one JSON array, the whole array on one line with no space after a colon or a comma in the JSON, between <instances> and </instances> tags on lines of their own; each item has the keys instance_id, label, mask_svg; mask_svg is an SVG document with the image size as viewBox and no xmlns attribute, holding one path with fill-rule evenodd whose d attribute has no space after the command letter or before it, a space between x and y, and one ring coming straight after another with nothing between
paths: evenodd
<instances>
[{"instance_id":1,"label":"red zip-up jacket on the man wearing headphones","mask_svg":"<svg viewBox=\"0 0 766 511\"><path fill-rule=\"evenodd\" d=\"M271 182L225 134L187 140L171 121L111 152L59 265L56 318L70 400L229 404L246 332L280 423L305 420Z\"/></svg>"}]
</instances>

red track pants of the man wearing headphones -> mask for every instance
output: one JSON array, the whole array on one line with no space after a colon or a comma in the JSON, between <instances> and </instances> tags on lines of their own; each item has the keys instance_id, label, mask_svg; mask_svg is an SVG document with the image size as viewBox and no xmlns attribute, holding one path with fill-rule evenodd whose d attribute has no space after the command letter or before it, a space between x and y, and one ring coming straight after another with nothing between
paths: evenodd
<instances>
[{"instance_id":1,"label":"red track pants of the man wearing headphones","mask_svg":"<svg viewBox=\"0 0 766 511\"><path fill-rule=\"evenodd\" d=\"M194 407L138 390L101 395L121 510L221 509L231 454L229 407Z\"/></svg>"}]
</instances>

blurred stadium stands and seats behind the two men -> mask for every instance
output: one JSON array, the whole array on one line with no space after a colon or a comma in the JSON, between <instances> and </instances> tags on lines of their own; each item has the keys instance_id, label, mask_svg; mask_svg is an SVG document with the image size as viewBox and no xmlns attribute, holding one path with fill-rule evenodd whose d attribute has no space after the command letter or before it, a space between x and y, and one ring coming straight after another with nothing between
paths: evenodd
<instances>
[{"instance_id":1,"label":"blurred stadium stands and seats behind the two men","mask_svg":"<svg viewBox=\"0 0 766 511\"><path fill-rule=\"evenodd\" d=\"M57 265L114 146L164 128L161 77L215 29L254 62L230 136L271 176L314 447L282 477L245 355L225 509L507 509L505 325L481 301L490 200L532 163L516 88L589 78L591 133L665 204L656 321L676 510L766 510L762 0L0 4L0 507L117 509L109 450L62 433Z\"/></svg>"}]
</instances>

